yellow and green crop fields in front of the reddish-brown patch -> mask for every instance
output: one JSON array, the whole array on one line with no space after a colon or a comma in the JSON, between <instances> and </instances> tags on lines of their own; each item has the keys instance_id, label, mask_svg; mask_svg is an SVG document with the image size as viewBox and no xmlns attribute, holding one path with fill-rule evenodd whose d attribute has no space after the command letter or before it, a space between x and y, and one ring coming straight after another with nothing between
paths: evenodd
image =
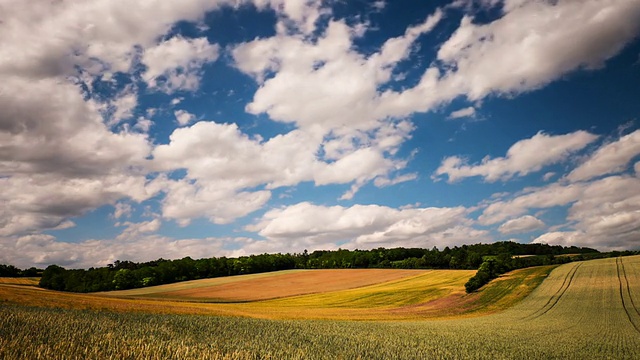
<instances>
[{"instance_id":1,"label":"yellow and green crop fields in front of the reddish-brown patch","mask_svg":"<svg viewBox=\"0 0 640 360\"><path fill-rule=\"evenodd\" d=\"M461 285L447 289L444 279L453 274L427 271L352 289L236 304L0 286L0 358L640 356L639 256L576 262L550 270L518 270L474 294L463 294ZM535 287L544 272L548 277ZM428 280L430 275L433 278ZM442 278L438 280L437 275ZM425 286L423 301L410 291L406 303L388 295L389 289L402 294L403 286L410 290L418 284ZM100 308L108 311L96 311ZM305 316L298 316L298 311L305 308L323 319L299 320ZM452 310L461 308L466 310ZM277 309L281 312L270 313ZM212 316L225 311L234 316ZM387 321L348 321L350 313L356 320L368 319L363 316L366 311Z\"/></svg>"}]
</instances>

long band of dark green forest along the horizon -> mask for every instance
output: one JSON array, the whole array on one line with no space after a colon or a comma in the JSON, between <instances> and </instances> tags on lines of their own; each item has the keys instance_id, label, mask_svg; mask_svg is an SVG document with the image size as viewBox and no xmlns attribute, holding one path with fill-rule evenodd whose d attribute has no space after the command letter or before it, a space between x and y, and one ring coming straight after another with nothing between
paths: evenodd
<instances>
[{"instance_id":1,"label":"long band of dark green forest along the horizon","mask_svg":"<svg viewBox=\"0 0 640 360\"><path fill-rule=\"evenodd\" d=\"M562 256L572 254L574 256ZM116 261L106 267L65 269L50 265L41 271L40 286L52 290L95 292L124 290L178 281L221 276L255 274L289 269L480 269L470 280L473 291L501 273L517 268L560 264L564 262L630 255L632 252L600 253L583 247L562 247L546 244L497 242L462 245L443 250L437 248L378 248L374 250L306 250L295 254L261 254L238 258L213 257L194 260L158 259L136 263ZM527 256L523 256L527 255ZM484 269L484 271L483 271ZM37 269L20 270L0 265L0 276L34 276Z\"/></svg>"}]
</instances>

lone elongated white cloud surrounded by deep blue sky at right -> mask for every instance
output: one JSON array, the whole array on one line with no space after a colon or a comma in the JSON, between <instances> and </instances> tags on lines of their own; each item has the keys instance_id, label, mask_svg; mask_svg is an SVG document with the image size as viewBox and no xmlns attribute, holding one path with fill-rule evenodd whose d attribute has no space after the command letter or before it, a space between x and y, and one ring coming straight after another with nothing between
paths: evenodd
<instances>
[{"instance_id":1,"label":"lone elongated white cloud surrounded by deep blue sky at right","mask_svg":"<svg viewBox=\"0 0 640 360\"><path fill-rule=\"evenodd\" d=\"M572 153L584 148L598 137L586 131L566 135L547 135L542 132L530 139L513 144L505 157L486 157L478 165L467 165L457 156L444 159L434 177L447 175L449 182L472 176L482 176L485 181L508 180L541 170L544 166L567 159Z\"/></svg>"}]
</instances>

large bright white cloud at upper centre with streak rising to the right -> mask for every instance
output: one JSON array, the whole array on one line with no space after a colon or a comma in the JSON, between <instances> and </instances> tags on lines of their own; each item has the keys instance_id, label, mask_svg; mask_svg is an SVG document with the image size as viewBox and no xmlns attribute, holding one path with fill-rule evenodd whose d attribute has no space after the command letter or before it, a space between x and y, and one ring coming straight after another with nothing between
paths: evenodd
<instances>
[{"instance_id":1,"label":"large bright white cloud at upper centre with streak rising to the right","mask_svg":"<svg viewBox=\"0 0 640 360\"><path fill-rule=\"evenodd\" d=\"M324 134L375 129L386 118L375 109L378 86L441 17L436 11L368 58L355 51L353 29L342 21L330 21L315 41L279 34L240 44L233 50L236 66L261 85L247 110Z\"/></svg>"}]
</instances>

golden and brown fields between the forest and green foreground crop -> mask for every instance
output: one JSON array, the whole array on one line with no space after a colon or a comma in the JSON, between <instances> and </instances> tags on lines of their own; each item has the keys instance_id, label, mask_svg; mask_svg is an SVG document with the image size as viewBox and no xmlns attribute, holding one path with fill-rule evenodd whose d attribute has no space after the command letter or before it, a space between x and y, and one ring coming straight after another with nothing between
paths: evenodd
<instances>
[{"instance_id":1,"label":"golden and brown fields between the forest and green foreground crop","mask_svg":"<svg viewBox=\"0 0 640 360\"><path fill-rule=\"evenodd\" d=\"M411 320L495 312L525 297L551 269L517 270L474 294L464 291L464 283L474 273L472 270L347 269L281 271L96 294L0 285L0 299L32 306L118 312L267 319ZM231 302L233 293L229 292L229 285L242 286L240 302ZM307 294L311 290L314 293ZM228 297L220 299L224 292ZM185 293L182 297L176 295ZM217 293L216 297L200 295L212 293ZM268 300L260 300L263 297Z\"/></svg>"}]
</instances>

